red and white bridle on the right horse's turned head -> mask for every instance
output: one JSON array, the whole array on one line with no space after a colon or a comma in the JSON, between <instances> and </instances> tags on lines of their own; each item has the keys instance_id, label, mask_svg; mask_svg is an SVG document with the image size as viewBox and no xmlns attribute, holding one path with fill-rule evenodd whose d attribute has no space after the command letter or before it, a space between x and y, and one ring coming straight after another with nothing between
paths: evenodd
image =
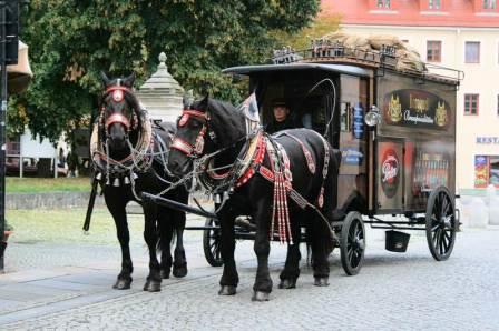
<instances>
[{"instance_id":1,"label":"red and white bridle on the right horse's turned head","mask_svg":"<svg viewBox=\"0 0 499 331\"><path fill-rule=\"evenodd\" d=\"M170 148L180 151L190 159L198 159L205 148L205 134L208 131L209 116L206 112L202 112L198 110L185 109L178 120L178 127L182 128L187 124L190 117L196 118L197 120L200 120L203 122L203 128L199 130L194 144L175 136Z\"/></svg>"}]
</instances>

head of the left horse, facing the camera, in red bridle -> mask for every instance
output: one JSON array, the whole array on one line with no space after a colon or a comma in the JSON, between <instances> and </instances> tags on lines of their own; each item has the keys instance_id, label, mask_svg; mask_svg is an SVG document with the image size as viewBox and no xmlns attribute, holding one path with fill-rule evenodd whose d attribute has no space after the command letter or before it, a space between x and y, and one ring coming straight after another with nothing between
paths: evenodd
<instances>
[{"instance_id":1,"label":"head of the left horse, facing the camera, in red bridle","mask_svg":"<svg viewBox=\"0 0 499 331\"><path fill-rule=\"evenodd\" d=\"M101 79L105 91L100 100L99 124L109 148L121 151L127 147L130 133L139 128L140 106L133 91L135 73L109 79L101 72Z\"/></svg>"}]
</instances>

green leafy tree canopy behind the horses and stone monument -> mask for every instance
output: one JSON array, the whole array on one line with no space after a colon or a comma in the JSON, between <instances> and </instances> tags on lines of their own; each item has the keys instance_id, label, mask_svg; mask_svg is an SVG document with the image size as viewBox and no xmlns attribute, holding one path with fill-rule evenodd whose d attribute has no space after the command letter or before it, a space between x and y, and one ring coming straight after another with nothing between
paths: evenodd
<instances>
[{"instance_id":1,"label":"green leafy tree canopy behind the horses and stone monument","mask_svg":"<svg viewBox=\"0 0 499 331\"><path fill-rule=\"evenodd\" d=\"M186 89L236 101L221 69L262 62L275 32L306 27L319 0L31 0L21 39L35 80L13 99L9 126L51 140L96 109L99 72L144 81L165 51Z\"/></svg>"}]
</instances>

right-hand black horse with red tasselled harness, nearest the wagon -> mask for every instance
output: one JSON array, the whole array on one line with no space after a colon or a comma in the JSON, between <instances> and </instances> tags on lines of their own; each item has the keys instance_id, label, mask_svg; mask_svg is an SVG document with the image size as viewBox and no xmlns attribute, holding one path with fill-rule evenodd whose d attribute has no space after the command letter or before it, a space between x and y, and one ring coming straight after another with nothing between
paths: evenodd
<instances>
[{"instance_id":1,"label":"right-hand black horse with red tasselled harness, nearest the wagon","mask_svg":"<svg viewBox=\"0 0 499 331\"><path fill-rule=\"evenodd\" d=\"M188 175L198 168L194 171L200 170L200 182L215 195L224 261L218 293L236 293L237 215L251 215L256 225L254 251L258 267L253 300L268 300L272 291L271 238L288 244L280 288L295 288L301 225L306 227L312 247L314 283L327 285L327 255L334 237L330 221L340 154L315 131L293 129L270 137L258 130L248 133L246 123L243 111L206 97L184 110L169 153L168 167L174 174Z\"/></svg>"}]
</instances>

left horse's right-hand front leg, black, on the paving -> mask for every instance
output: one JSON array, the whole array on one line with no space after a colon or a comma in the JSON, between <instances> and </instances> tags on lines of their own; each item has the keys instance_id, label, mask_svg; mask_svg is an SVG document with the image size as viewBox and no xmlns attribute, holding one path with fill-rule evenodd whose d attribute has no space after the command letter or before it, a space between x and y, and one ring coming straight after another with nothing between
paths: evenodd
<instances>
[{"instance_id":1,"label":"left horse's right-hand front leg, black, on the paving","mask_svg":"<svg viewBox=\"0 0 499 331\"><path fill-rule=\"evenodd\" d=\"M144 291L158 292L162 290L162 275L159 262L156 255L156 245L158 243L157 232L157 208L151 203L144 203L144 239L149 248L149 275L147 275Z\"/></svg>"}]
</instances>

